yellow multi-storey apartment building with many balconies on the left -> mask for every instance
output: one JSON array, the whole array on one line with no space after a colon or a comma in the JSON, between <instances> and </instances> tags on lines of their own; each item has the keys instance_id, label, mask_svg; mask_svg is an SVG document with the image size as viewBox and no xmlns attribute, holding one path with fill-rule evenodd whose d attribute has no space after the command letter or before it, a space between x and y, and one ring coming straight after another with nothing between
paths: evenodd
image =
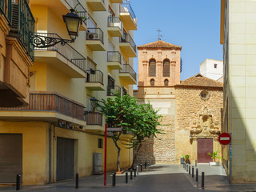
<instances>
[{"instance_id":1,"label":"yellow multi-storey apartment building with many balconies on the left","mask_svg":"<svg viewBox=\"0 0 256 192\"><path fill-rule=\"evenodd\" d=\"M13 183L21 174L23 185L37 185L101 171L105 117L94 109L94 98L113 97L115 91L133 95L134 11L122 0L30 0L26 6L37 44L30 94L28 106L0 110L0 158L6 167L0 182ZM70 9L82 18L78 37L49 46L53 38L70 39L62 18ZM129 138L123 134L122 142ZM117 150L111 138L107 145L107 170L114 170ZM121 167L130 166L132 157L122 146Z\"/></svg>"}]
</instances>

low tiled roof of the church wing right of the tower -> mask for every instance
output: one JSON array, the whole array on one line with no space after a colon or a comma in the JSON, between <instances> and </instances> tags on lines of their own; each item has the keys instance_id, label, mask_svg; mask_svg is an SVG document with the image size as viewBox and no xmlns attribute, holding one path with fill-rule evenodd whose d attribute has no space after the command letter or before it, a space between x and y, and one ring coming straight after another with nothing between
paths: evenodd
<instances>
[{"instance_id":1,"label":"low tiled roof of the church wing right of the tower","mask_svg":"<svg viewBox=\"0 0 256 192\"><path fill-rule=\"evenodd\" d=\"M210 87L223 87L222 82L217 82L214 79L206 78L202 76L202 74L196 74L191 78L187 78L186 80L182 81L180 85L177 86L210 86Z\"/></svg>"}]
</instances>

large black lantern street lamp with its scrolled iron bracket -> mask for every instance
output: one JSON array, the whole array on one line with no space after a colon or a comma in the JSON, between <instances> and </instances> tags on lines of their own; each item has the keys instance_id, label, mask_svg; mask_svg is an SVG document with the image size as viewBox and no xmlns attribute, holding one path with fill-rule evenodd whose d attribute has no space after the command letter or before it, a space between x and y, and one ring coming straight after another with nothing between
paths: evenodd
<instances>
[{"instance_id":1,"label":"large black lantern street lamp with its scrolled iron bracket","mask_svg":"<svg viewBox=\"0 0 256 192\"><path fill-rule=\"evenodd\" d=\"M59 42L61 43L62 46L64 46L68 42L74 42L75 38L78 36L79 29L82 23L82 18L80 18L78 14L74 12L74 9L70 9L70 13L63 15L62 17L64 22L66 23L66 29L71 39L53 38L53 37L43 36L40 34L33 34L32 43L34 47L46 48L46 47L54 46Z\"/></svg>"}]
</instances>

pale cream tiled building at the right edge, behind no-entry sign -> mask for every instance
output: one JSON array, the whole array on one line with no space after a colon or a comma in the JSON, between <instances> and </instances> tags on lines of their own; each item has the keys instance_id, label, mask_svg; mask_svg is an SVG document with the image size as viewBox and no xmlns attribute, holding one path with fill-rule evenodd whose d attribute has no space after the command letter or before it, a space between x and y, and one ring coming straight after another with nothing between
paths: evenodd
<instances>
[{"instance_id":1,"label":"pale cream tiled building at the right edge, behind no-entry sign","mask_svg":"<svg viewBox=\"0 0 256 192\"><path fill-rule=\"evenodd\" d=\"M222 0L221 43L224 60L224 132L222 147L231 183L256 182L256 2Z\"/></svg>"}]
</instances>

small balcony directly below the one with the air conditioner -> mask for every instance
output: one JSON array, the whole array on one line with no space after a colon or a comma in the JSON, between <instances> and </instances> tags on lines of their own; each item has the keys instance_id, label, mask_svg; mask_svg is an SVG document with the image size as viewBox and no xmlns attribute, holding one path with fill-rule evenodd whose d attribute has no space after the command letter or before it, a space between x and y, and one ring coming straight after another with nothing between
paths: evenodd
<instances>
[{"instance_id":1,"label":"small balcony directly below the one with the air conditioner","mask_svg":"<svg viewBox=\"0 0 256 192\"><path fill-rule=\"evenodd\" d=\"M105 90L103 73L100 70L86 70L86 88L89 90Z\"/></svg>"}]
</instances>

